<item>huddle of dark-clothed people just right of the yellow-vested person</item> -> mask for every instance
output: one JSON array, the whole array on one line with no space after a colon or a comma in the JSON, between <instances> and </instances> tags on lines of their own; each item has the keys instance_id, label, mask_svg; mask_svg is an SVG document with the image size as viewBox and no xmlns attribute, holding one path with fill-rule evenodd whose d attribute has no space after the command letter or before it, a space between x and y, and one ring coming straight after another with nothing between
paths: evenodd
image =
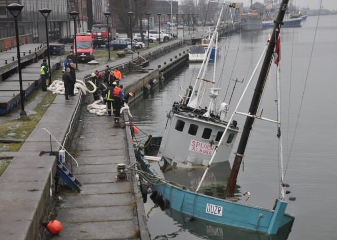
<instances>
[{"instance_id":1,"label":"huddle of dark-clothed people just right of the yellow-vested person","mask_svg":"<svg viewBox=\"0 0 337 240\"><path fill-rule=\"evenodd\" d=\"M69 96L75 96L74 89L76 84L76 72L73 56L69 54L63 64L65 70L62 75L64 96L66 101L70 101L71 99L69 99Z\"/></svg>"}]
</instances>

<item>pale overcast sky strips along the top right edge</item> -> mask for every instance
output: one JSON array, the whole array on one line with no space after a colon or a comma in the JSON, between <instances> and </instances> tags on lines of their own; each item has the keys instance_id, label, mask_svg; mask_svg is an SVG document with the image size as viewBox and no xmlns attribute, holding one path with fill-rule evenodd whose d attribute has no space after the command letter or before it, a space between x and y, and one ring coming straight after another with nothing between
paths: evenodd
<instances>
[{"instance_id":1,"label":"pale overcast sky strips along the top right edge","mask_svg":"<svg viewBox=\"0 0 337 240\"><path fill-rule=\"evenodd\" d=\"M231 0L232 2L235 2ZM337 0L322 0L322 6L324 9L337 10ZM244 3L244 6L250 6L250 0L238 0L237 3ZM263 0L253 0L253 4L256 2L263 3ZM303 8L309 7L310 9L319 9L321 0L292 0L293 4Z\"/></svg>"}]
</instances>

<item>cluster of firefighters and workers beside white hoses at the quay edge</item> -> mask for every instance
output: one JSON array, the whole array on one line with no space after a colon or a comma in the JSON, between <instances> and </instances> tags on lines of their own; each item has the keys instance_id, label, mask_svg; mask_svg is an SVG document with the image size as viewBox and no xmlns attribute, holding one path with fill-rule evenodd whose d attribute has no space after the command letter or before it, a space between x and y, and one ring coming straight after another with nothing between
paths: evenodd
<instances>
[{"instance_id":1,"label":"cluster of firefighters and workers beside white hoses at the quay edge","mask_svg":"<svg viewBox=\"0 0 337 240\"><path fill-rule=\"evenodd\" d=\"M116 117L120 117L120 111L124 103L129 103L129 98L133 97L133 93L124 94L123 85L119 85L119 81L122 79L122 73L115 68L114 71L110 71L109 66L105 67L103 76L96 70L91 73L91 82L97 86L97 90L93 93L93 99L99 100L99 95L102 95L104 103L107 104L107 110L109 116L114 114Z\"/></svg>"}]
</instances>

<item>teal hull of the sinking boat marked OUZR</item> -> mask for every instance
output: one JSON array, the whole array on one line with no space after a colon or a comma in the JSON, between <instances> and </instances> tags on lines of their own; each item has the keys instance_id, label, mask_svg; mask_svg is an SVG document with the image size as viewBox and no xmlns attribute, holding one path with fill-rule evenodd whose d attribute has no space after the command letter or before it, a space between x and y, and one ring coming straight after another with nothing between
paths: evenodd
<instances>
[{"instance_id":1,"label":"teal hull of the sinking boat marked OUZR","mask_svg":"<svg viewBox=\"0 0 337 240\"><path fill-rule=\"evenodd\" d=\"M166 209L174 209L191 218L210 223L266 234L276 234L280 228L292 223L295 219L293 216L285 214L287 205L285 201L277 199L274 209L270 210L197 194L161 179L150 168L149 163L143 159L141 150L138 150L137 159L143 171L157 178L156 180L152 178L148 183L153 194L160 196L160 199L157 199L155 203L158 204L158 201L164 200Z\"/></svg>"}]
</instances>

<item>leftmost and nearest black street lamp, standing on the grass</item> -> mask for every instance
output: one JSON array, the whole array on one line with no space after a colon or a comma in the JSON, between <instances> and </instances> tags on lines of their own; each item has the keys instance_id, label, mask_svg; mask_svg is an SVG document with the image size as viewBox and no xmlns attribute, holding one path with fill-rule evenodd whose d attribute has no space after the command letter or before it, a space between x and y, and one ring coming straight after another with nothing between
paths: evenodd
<instances>
[{"instance_id":1,"label":"leftmost and nearest black street lamp, standing on the grass","mask_svg":"<svg viewBox=\"0 0 337 240\"><path fill-rule=\"evenodd\" d=\"M20 43L19 43L19 30L17 27L17 16L20 14L23 6L19 4L10 4L7 10L13 15L15 20L15 35L16 35L16 50L17 50L17 64L19 68L19 84L20 84L20 102L21 102L21 112L20 119L28 119L27 113L25 111L25 105L23 104L23 89L22 89L22 75L21 75L21 59L20 59Z\"/></svg>"}]
</instances>

